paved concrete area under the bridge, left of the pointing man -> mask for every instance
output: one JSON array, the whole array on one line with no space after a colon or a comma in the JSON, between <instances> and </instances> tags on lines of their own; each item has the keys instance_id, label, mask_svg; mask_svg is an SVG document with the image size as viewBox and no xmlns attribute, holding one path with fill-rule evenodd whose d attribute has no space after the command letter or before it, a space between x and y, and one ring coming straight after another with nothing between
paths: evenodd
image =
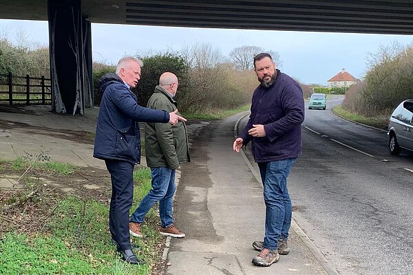
<instances>
[{"instance_id":1,"label":"paved concrete area under the bridge, left of the pointing man","mask_svg":"<svg viewBox=\"0 0 413 275\"><path fill-rule=\"evenodd\" d=\"M92 157L98 109L85 112L72 116L51 113L50 106L0 107L0 158L42 154L54 162L105 169L105 162Z\"/></svg>"}]
</instances>

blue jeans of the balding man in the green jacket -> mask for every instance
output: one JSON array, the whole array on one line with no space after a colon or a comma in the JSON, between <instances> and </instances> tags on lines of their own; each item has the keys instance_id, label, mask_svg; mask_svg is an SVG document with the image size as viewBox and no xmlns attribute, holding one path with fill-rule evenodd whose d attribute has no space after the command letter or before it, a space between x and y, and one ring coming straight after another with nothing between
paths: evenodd
<instances>
[{"instance_id":1,"label":"blue jeans of the balding man in the green jacket","mask_svg":"<svg viewBox=\"0 0 413 275\"><path fill-rule=\"evenodd\" d=\"M132 214L131 221L142 223L147 212L159 201L159 216L162 228L168 228L173 223L172 205L175 193L175 170L168 167L151 168L152 189L140 202Z\"/></svg>"}]
</instances>

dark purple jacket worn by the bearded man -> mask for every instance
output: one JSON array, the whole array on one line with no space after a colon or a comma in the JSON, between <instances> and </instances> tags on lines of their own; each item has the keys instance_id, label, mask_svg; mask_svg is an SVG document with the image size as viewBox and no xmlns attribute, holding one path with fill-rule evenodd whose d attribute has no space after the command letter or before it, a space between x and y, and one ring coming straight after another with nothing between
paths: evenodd
<instances>
[{"instance_id":1,"label":"dark purple jacket worn by the bearded man","mask_svg":"<svg viewBox=\"0 0 413 275\"><path fill-rule=\"evenodd\" d=\"M252 141L255 162L291 159L301 154L301 123L304 121L303 91L290 76L277 69L275 83L255 89L251 115L239 135L244 145ZM265 137L251 137L253 124L263 124Z\"/></svg>"}]
</instances>

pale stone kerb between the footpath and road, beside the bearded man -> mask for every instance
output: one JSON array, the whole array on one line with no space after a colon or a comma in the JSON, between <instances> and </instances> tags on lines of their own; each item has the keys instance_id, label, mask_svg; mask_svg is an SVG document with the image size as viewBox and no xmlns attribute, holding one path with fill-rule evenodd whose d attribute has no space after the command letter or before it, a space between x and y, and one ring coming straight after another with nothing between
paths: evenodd
<instances>
[{"instance_id":1,"label":"pale stone kerb between the footpath and road, beside the bearded man","mask_svg":"<svg viewBox=\"0 0 413 275\"><path fill-rule=\"evenodd\" d=\"M247 115L250 115L249 113L247 113L246 115L242 115L241 118L239 118L237 120L237 122L235 122L235 126L234 126L234 137L237 137L237 127L238 124L240 123L240 121L242 119L244 119ZM248 165L248 168L250 168L251 173L253 173L255 179L257 179L258 182L260 182L261 186L262 186L262 179L260 177L260 175L258 174L257 170L255 170L253 164L251 164L251 162L249 161L248 157L246 157L243 149L240 150L240 153L242 155L242 158L244 159L244 161L246 162L246 164ZM308 250L310 250L310 252L315 256L315 259L317 259L317 261L319 262L319 264L321 265L321 267L324 268L324 270L329 274L329 275L339 275L339 272L337 272L331 265L330 263L328 263L328 260L326 259L326 257L321 254L321 252L319 251L319 249L315 246L315 244L313 243L313 241L310 240L310 238L308 238L308 236L306 235L306 233L299 227L299 225L297 224L297 222L295 221L294 217L291 220L291 228L294 230L294 232L299 236L299 239L301 239L301 241L303 241L303 243L306 245L306 247L308 248Z\"/></svg>"}]
</instances>

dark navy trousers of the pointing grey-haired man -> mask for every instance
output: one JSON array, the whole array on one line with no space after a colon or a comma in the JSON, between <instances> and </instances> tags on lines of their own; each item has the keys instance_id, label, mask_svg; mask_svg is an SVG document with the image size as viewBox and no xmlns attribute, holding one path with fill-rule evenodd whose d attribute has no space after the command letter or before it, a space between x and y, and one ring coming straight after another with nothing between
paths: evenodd
<instances>
[{"instance_id":1,"label":"dark navy trousers of the pointing grey-haired man","mask_svg":"<svg viewBox=\"0 0 413 275\"><path fill-rule=\"evenodd\" d=\"M112 179L109 228L118 250L131 249L129 236L129 209L134 197L134 165L118 160L105 160Z\"/></svg>"}]
</instances>

